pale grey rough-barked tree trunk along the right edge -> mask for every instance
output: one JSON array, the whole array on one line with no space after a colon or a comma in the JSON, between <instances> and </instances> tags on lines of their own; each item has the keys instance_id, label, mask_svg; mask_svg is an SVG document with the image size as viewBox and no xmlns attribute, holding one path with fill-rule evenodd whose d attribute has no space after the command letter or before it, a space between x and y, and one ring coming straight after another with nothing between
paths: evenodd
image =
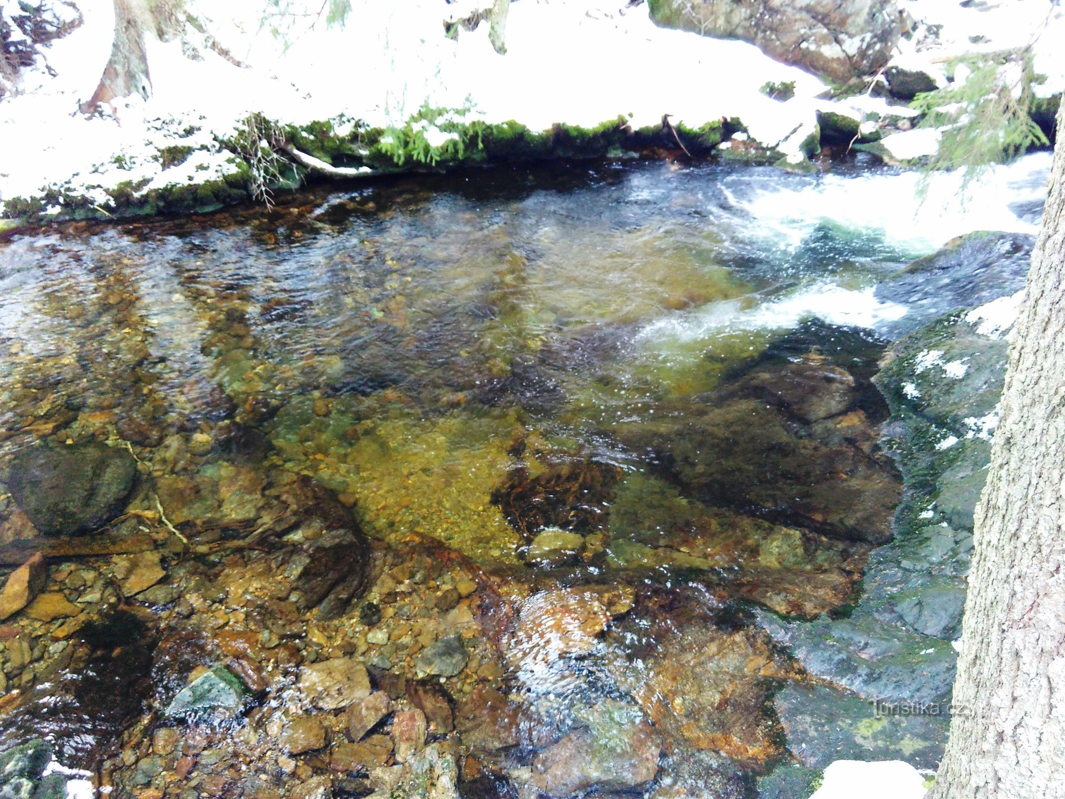
<instances>
[{"instance_id":1,"label":"pale grey rough-barked tree trunk along the right edge","mask_svg":"<svg viewBox=\"0 0 1065 799\"><path fill-rule=\"evenodd\" d=\"M1059 130L1065 121L1065 104ZM1065 140L977 508L950 740L930 799L1065 797Z\"/></svg>"}]
</instances>

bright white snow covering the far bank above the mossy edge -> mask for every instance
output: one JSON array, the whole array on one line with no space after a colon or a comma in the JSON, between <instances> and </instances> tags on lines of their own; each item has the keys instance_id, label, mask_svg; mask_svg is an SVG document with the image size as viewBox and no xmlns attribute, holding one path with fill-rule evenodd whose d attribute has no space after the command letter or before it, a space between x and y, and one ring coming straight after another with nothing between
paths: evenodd
<instances>
[{"instance_id":1,"label":"bright white snow covering the far bank above the mossy edge","mask_svg":"<svg viewBox=\"0 0 1065 799\"><path fill-rule=\"evenodd\" d=\"M300 1L313 19L320 0L292 6ZM13 6L15 0L0 0L4 3ZM956 0L903 3L917 19L941 20L944 44L918 53L903 42L900 59L929 61L972 49L968 36L976 30L986 39L979 45L984 49L1032 38L1044 28L1041 42L1048 42L1065 25L1060 6L1051 13L1048 0L1010 0L988 12L961 9ZM487 22L461 31L457 40L444 36L445 18L460 18L481 4L353 0L344 27L298 21L282 42L262 25L264 0L186 0L246 66L231 64L202 42L185 43L186 50L192 44L198 52L199 60L191 60L181 42L149 40L152 96L117 101L117 118L86 118L78 104L93 94L108 61L114 12L112 0L78 0L84 23L47 50L53 75L26 70L20 94L0 100L5 153L0 201L53 187L87 196L106 210L111 198L104 190L124 182L145 193L217 179L236 167L216 138L232 135L249 112L282 124L343 115L383 126L402 124L428 102L470 108L468 118L514 119L534 131L555 123L593 127L619 115L629 117L634 128L657 125L667 113L692 128L735 116L756 141L793 160L818 108L858 119L887 113L884 100L869 96L836 103L817 99L826 88L818 78L752 45L657 28L645 3L521 0L510 10L506 55L490 45ZM1063 56L1053 50L1041 44L1037 60L1037 67L1052 74L1050 87L1065 83ZM796 91L786 102L758 91L767 82L789 81ZM917 142L917 134L924 138ZM931 141L925 131L903 135L913 141L894 143L900 152L919 153ZM198 149L164 169L160 150L168 145Z\"/></svg>"}]
</instances>

